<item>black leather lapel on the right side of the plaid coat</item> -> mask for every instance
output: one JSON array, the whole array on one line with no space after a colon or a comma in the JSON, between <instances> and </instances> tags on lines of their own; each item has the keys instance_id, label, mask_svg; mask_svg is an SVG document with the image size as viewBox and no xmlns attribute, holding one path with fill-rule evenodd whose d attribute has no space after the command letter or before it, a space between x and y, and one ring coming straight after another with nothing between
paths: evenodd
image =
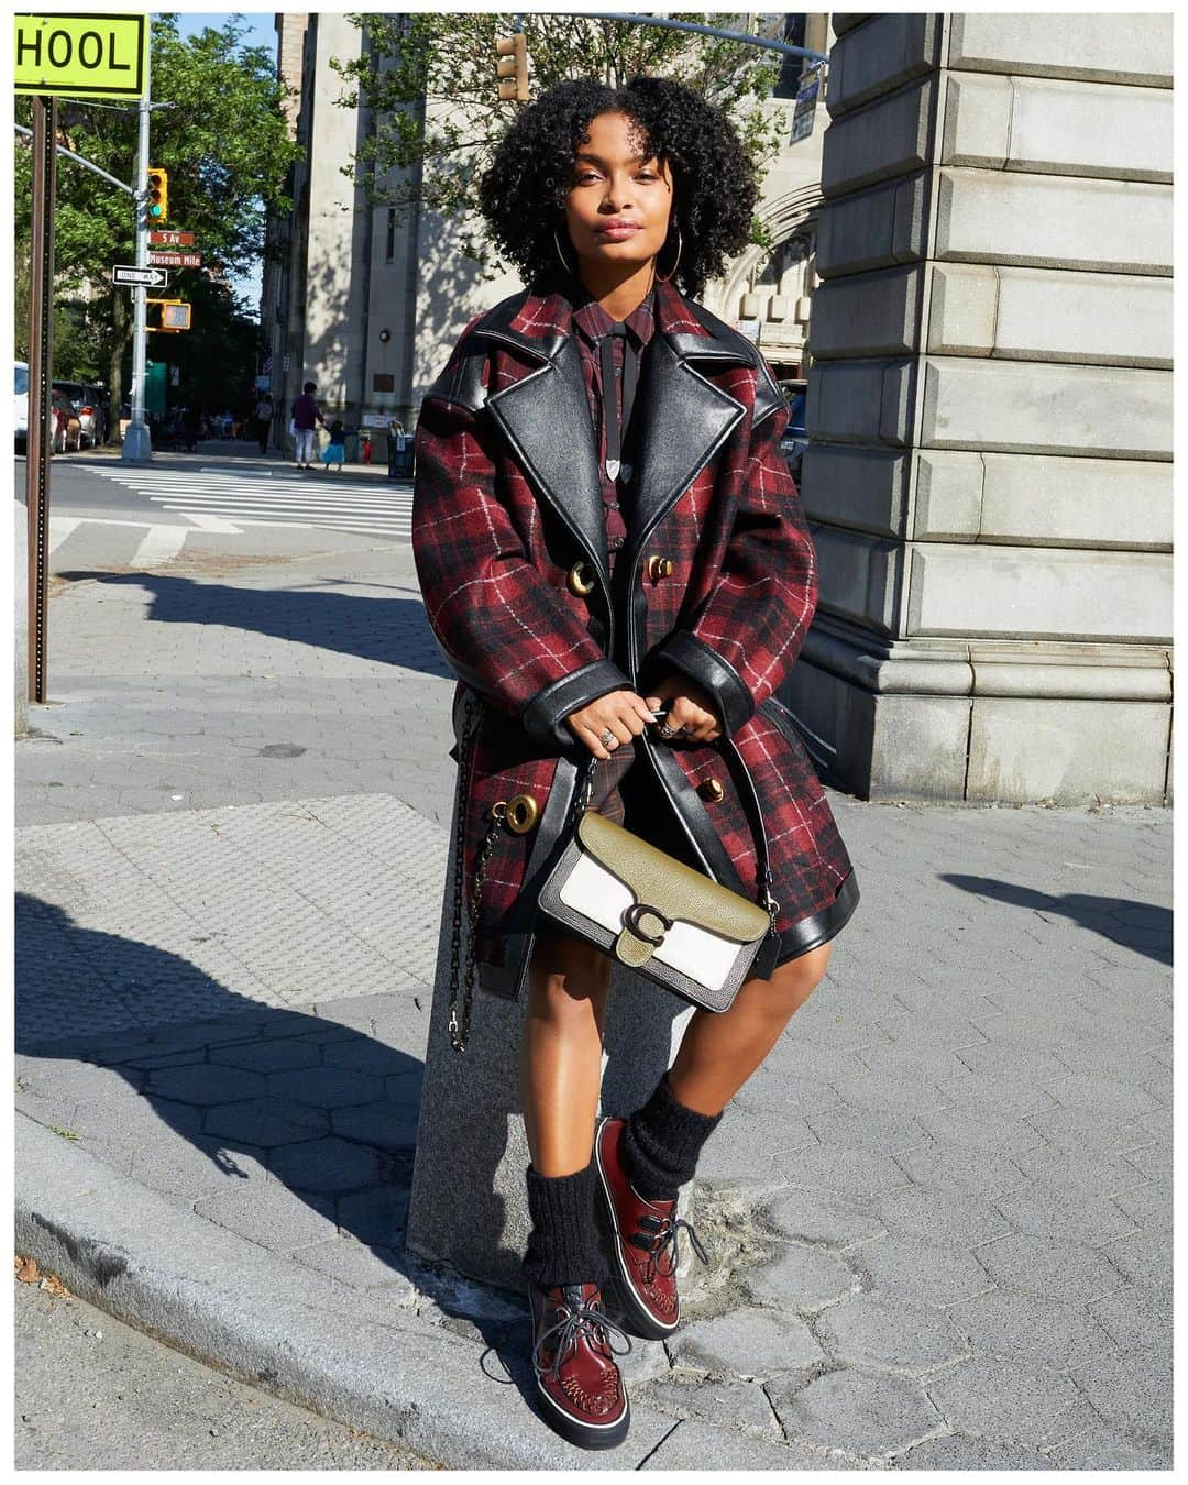
<instances>
[{"instance_id":1,"label":"black leather lapel on the right side of the plaid coat","mask_svg":"<svg viewBox=\"0 0 1188 1485\"><path fill-rule=\"evenodd\" d=\"M631 535L622 561L634 561L656 521L745 414L742 402L691 364L693 356L732 364L741 359L705 336L670 331L652 337L631 419L636 471Z\"/></svg>"}]
</instances>

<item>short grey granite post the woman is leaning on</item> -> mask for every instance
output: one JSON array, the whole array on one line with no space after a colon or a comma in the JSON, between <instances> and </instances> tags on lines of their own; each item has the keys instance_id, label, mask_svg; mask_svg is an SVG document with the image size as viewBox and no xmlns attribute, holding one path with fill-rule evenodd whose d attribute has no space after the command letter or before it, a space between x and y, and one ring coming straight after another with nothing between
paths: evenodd
<instances>
[{"instance_id":1,"label":"short grey granite post the woman is leaning on","mask_svg":"<svg viewBox=\"0 0 1188 1485\"><path fill-rule=\"evenodd\" d=\"M429 1016L405 1243L417 1258L451 1264L483 1283L523 1289L520 1259L529 1237L518 1071L524 1007L477 989L466 1051L450 1045L453 876L450 851L441 918L446 952L438 952ZM691 1016L692 1007L615 967L603 1056L604 1114L624 1117L647 1099ZM689 1187L682 1191L680 1216L688 1216L691 1194ZM686 1243L682 1273L689 1259Z\"/></svg>"}]
</instances>

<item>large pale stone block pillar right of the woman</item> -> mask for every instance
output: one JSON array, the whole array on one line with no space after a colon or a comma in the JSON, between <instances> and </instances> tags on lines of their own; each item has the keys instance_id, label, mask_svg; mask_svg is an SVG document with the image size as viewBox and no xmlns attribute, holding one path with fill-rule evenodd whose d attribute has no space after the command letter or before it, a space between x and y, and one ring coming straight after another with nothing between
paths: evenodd
<instances>
[{"instance_id":1,"label":"large pale stone block pillar right of the woman","mask_svg":"<svg viewBox=\"0 0 1188 1485\"><path fill-rule=\"evenodd\" d=\"M838 15L789 685L872 799L1170 799L1172 16Z\"/></svg>"}]
</instances>

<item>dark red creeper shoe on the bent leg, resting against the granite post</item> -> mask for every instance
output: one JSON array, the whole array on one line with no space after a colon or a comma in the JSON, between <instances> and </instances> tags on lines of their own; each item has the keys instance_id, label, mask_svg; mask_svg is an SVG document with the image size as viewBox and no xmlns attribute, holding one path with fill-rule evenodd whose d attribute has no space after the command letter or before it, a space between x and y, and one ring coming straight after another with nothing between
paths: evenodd
<instances>
[{"instance_id":1,"label":"dark red creeper shoe on the bent leg, resting against the granite post","mask_svg":"<svg viewBox=\"0 0 1188 1485\"><path fill-rule=\"evenodd\" d=\"M662 1341L680 1325L677 1233L683 1227L701 1262L708 1262L696 1233L677 1218L676 1201L647 1201L627 1176L622 1132L627 1120L603 1118L594 1136L598 1185L610 1218L619 1299L631 1329Z\"/></svg>"}]
</instances>

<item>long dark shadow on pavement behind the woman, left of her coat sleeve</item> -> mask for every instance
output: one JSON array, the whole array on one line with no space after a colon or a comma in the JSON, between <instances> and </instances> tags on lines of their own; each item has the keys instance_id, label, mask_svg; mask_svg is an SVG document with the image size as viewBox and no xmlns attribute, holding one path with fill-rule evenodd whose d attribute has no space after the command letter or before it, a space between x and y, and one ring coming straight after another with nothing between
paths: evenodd
<instances>
[{"instance_id":1,"label":"long dark shadow on pavement behind the woman, left of her coat sleeve","mask_svg":"<svg viewBox=\"0 0 1188 1485\"><path fill-rule=\"evenodd\" d=\"M148 619L154 624L221 624L382 665L419 670L444 680L454 679L419 597L364 598L318 591L312 585L269 591L153 572L64 572L58 576L65 582L91 579L113 587L147 588L153 595Z\"/></svg>"}]
</instances>

